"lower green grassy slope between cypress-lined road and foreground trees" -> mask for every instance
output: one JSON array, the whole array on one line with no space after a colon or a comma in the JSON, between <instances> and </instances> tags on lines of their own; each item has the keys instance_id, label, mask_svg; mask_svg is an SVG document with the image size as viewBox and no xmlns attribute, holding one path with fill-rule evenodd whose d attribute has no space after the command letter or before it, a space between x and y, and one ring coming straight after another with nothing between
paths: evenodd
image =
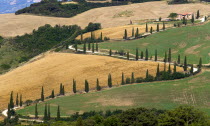
<instances>
[{"instance_id":1,"label":"lower green grassy slope between cypress-lined road and foreground trees","mask_svg":"<svg viewBox=\"0 0 210 126\"><path fill-rule=\"evenodd\" d=\"M189 104L209 111L210 72L206 71L195 77L177 81L154 82L127 85L101 92L80 94L50 100L52 115L56 115L57 105L61 106L62 115L76 111L128 109L148 107L171 109L180 104ZM39 114L43 115L44 104L38 105ZM34 115L34 106L19 110L20 114Z\"/></svg>"}]
</instances>

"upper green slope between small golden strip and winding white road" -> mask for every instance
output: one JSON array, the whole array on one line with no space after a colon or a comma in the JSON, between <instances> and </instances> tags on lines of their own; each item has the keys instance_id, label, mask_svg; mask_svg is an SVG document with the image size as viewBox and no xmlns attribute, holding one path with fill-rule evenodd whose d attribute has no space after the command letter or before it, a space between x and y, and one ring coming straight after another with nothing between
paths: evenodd
<instances>
[{"instance_id":1,"label":"upper green slope between small golden strip and winding white road","mask_svg":"<svg viewBox=\"0 0 210 126\"><path fill-rule=\"evenodd\" d=\"M102 49L125 50L135 54L136 48L141 51L149 49L149 55L158 50L158 55L164 57L165 51L172 48L172 56L175 60L178 54L188 57L189 63L198 63L199 57L202 57L203 63L210 62L210 23L194 26L170 29L164 32L153 34L145 39L122 41L122 42L104 42L99 45Z\"/></svg>"}]
</instances>

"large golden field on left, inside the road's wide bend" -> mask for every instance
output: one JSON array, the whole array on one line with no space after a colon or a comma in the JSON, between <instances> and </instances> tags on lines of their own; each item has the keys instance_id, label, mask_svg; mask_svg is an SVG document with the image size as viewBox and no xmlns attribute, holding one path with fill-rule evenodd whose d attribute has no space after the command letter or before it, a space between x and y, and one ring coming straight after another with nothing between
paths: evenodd
<instances>
[{"instance_id":1,"label":"large golden field on left, inside the road's wide bend","mask_svg":"<svg viewBox=\"0 0 210 126\"><path fill-rule=\"evenodd\" d=\"M43 54L42 54L43 55ZM88 80L90 88L95 89L96 78L101 86L107 86L108 74L112 74L113 85L121 83L121 74L125 78L145 77L146 70L156 74L158 63L151 61L127 61L108 56L82 55L70 53L47 53L33 62L26 63L0 76L0 109L7 106L9 94L14 91L23 94L23 100L40 98L41 87L44 86L45 96L55 89L57 94L60 83L65 85L67 92L72 92L72 80L77 81L77 89L84 89L84 81ZM160 64L163 70L164 64ZM183 69L178 67L178 71Z\"/></svg>"}]
</instances>

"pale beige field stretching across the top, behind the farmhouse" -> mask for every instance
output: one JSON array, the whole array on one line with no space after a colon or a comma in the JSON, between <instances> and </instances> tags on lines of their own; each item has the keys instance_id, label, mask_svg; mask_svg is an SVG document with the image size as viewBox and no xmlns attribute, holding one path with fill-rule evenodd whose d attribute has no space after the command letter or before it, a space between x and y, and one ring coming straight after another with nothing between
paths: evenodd
<instances>
[{"instance_id":1,"label":"pale beige field stretching across the top, behind the farmhouse","mask_svg":"<svg viewBox=\"0 0 210 126\"><path fill-rule=\"evenodd\" d=\"M72 18L56 18L33 15L0 15L0 35L11 37L31 33L45 24L72 25L78 24L82 28L89 22L98 22L103 28L123 26L144 19L166 18L172 12L186 13L200 10L201 15L208 15L210 6L202 3L168 5L165 1L146 2L124 6L103 7L86 11ZM132 12L132 15L116 17L122 12Z\"/></svg>"}]
</instances>

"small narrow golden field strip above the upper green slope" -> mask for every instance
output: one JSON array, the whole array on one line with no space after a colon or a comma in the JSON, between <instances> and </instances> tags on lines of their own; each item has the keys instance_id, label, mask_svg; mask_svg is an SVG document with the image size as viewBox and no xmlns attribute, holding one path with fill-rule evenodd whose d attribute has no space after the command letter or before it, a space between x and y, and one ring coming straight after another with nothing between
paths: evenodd
<instances>
[{"instance_id":1,"label":"small narrow golden field strip above the upper green slope","mask_svg":"<svg viewBox=\"0 0 210 126\"><path fill-rule=\"evenodd\" d=\"M166 24L165 27L172 27L173 24ZM148 30L150 31L150 27L153 28L153 30L157 29L157 24L148 24ZM162 24L159 25L159 28L162 29ZM112 27L112 28L104 28L97 31L94 31L94 35L96 38L99 38L101 35L101 32L103 33L103 37L109 37L110 39L122 39L125 33L125 29L127 29L128 36L132 36L132 29L134 28L134 33L136 32L136 29L139 29L139 33L145 33L146 31L146 25L125 25L125 26L118 26L118 27ZM88 38L91 36L91 32L83 34L83 38ZM81 36L79 35L77 39L81 39Z\"/></svg>"}]
</instances>

